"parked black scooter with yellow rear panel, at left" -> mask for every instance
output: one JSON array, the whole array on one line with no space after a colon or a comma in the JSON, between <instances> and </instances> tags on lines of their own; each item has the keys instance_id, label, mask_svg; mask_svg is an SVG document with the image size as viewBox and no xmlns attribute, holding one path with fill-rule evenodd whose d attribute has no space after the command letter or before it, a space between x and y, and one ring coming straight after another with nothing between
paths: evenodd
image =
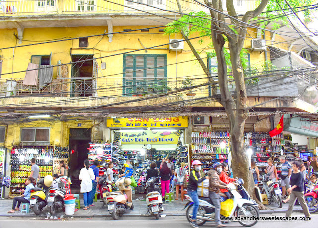
<instances>
[{"instance_id":1,"label":"parked black scooter with yellow rear panel, at left","mask_svg":"<svg viewBox=\"0 0 318 228\"><path fill-rule=\"evenodd\" d=\"M47 205L49 187L45 186L44 178L40 179L36 184L37 187L30 190L30 208L35 215L40 215L42 209Z\"/></svg>"}]
</instances>

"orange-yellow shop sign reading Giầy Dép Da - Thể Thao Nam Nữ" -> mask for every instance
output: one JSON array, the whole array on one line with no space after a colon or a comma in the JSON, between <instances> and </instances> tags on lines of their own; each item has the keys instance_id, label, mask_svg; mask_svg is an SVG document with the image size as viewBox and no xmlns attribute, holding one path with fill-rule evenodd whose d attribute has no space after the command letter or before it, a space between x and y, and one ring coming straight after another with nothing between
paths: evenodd
<instances>
[{"instance_id":1,"label":"orange-yellow shop sign reading Gi\u1ea7y D\u00e9p Da - Th\u1ec3 Thao Nam N\u1eef","mask_svg":"<svg viewBox=\"0 0 318 228\"><path fill-rule=\"evenodd\" d=\"M188 117L172 118L109 118L107 127L156 127L156 128L186 128Z\"/></svg>"}]
</instances>

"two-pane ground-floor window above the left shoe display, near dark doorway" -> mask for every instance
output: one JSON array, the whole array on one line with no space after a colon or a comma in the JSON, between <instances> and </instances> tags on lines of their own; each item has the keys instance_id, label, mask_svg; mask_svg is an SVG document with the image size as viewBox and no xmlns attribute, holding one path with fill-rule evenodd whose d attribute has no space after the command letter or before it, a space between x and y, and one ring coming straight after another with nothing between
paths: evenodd
<instances>
[{"instance_id":1,"label":"two-pane ground-floor window above the left shoe display, near dark doorway","mask_svg":"<svg viewBox=\"0 0 318 228\"><path fill-rule=\"evenodd\" d=\"M21 128L21 142L49 142L50 128Z\"/></svg>"}]
</instances>

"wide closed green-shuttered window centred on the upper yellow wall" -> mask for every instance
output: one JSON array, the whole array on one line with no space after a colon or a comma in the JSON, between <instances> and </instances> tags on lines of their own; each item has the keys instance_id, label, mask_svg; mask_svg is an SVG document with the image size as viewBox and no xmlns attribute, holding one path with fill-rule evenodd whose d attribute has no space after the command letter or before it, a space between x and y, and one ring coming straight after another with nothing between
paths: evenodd
<instances>
[{"instance_id":1,"label":"wide closed green-shuttered window centred on the upper yellow wall","mask_svg":"<svg viewBox=\"0 0 318 228\"><path fill-rule=\"evenodd\" d=\"M166 63L166 54L125 54L123 64L123 96L166 90Z\"/></svg>"}]
</instances>

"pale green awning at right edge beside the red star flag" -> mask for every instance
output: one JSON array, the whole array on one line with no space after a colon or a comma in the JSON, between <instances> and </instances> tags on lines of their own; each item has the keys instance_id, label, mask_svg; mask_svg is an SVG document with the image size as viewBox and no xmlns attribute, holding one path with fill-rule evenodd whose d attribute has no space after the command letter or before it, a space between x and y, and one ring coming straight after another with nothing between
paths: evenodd
<instances>
[{"instance_id":1,"label":"pale green awning at right edge beside the red star flag","mask_svg":"<svg viewBox=\"0 0 318 228\"><path fill-rule=\"evenodd\" d=\"M318 137L318 124L300 116L284 118L284 131L308 137Z\"/></svg>"}]
</instances>

